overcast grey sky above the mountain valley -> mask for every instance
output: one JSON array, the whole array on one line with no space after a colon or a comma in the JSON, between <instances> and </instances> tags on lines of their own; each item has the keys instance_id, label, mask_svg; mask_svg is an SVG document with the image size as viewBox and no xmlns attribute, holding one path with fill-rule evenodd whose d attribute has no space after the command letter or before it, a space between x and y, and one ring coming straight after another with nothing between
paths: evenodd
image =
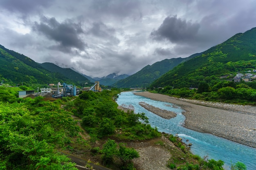
<instances>
[{"instance_id":1,"label":"overcast grey sky above the mountain valley","mask_svg":"<svg viewBox=\"0 0 256 170\"><path fill-rule=\"evenodd\" d=\"M0 44L92 77L134 74L256 27L255 0L0 0Z\"/></svg>"}]
</instances>

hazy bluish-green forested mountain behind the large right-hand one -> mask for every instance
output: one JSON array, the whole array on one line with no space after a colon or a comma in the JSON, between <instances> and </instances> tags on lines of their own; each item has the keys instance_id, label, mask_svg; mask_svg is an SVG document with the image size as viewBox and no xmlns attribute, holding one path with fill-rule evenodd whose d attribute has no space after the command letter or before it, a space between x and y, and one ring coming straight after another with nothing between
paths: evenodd
<instances>
[{"instance_id":1,"label":"hazy bluish-green forested mountain behind the large right-hand one","mask_svg":"<svg viewBox=\"0 0 256 170\"><path fill-rule=\"evenodd\" d=\"M186 58L173 58L158 61L152 65L147 65L135 74L124 78L113 84L114 87L148 87L155 79L162 76L164 73L173 69L178 64L196 57L202 53L196 53Z\"/></svg>"}]
</instances>

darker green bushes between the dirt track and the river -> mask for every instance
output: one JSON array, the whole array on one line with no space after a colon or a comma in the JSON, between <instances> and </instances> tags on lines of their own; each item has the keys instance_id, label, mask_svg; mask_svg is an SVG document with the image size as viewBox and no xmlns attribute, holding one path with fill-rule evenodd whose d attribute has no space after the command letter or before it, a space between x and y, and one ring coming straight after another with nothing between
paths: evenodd
<instances>
[{"instance_id":1,"label":"darker green bushes between the dirt track and the river","mask_svg":"<svg viewBox=\"0 0 256 170\"><path fill-rule=\"evenodd\" d=\"M119 90L85 91L74 100L72 107L67 105L66 108L81 117L85 130L98 138L112 134L118 139L130 140L158 137L159 132L148 124L144 113L126 113L117 109L118 105L112 98L119 93Z\"/></svg>"}]
</instances>

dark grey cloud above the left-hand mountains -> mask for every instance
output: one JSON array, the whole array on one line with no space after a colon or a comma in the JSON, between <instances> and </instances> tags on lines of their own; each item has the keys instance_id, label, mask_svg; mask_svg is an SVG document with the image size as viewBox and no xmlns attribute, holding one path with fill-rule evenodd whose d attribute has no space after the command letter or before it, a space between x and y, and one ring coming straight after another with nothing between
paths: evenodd
<instances>
[{"instance_id":1,"label":"dark grey cloud above the left-hand mountains","mask_svg":"<svg viewBox=\"0 0 256 170\"><path fill-rule=\"evenodd\" d=\"M71 48L77 48L84 50L87 46L79 37L83 33L81 25L70 20L59 23L54 17L43 17L40 23L35 22L33 29L58 42L58 45L52 46L52 49L69 51Z\"/></svg>"}]
</instances>

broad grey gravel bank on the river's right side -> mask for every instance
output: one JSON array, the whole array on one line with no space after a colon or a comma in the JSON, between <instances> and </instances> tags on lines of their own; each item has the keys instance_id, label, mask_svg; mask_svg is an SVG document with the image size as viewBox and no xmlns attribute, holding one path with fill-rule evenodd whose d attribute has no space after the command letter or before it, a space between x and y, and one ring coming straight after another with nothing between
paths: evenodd
<instances>
[{"instance_id":1,"label":"broad grey gravel bank on the river's right side","mask_svg":"<svg viewBox=\"0 0 256 170\"><path fill-rule=\"evenodd\" d=\"M173 98L149 92L134 94L180 106L186 117L184 127L188 129L256 148L256 107Z\"/></svg>"}]
</instances>

